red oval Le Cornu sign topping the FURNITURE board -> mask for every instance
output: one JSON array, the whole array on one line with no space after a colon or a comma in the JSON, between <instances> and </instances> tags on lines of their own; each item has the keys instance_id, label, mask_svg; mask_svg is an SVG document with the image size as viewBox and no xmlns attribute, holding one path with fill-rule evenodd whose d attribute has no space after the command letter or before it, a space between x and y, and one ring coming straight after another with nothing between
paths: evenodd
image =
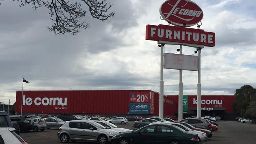
<instances>
[{"instance_id":1,"label":"red oval Le Cornu sign topping the FURNITURE board","mask_svg":"<svg viewBox=\"0 0 256 144\"><path fill-rule=\"evenodd\" d=\"M203 18L202 9L191 0L167 0L160 7L161 19L174 26L194 26Z\"/></svg>"}]
</instances>

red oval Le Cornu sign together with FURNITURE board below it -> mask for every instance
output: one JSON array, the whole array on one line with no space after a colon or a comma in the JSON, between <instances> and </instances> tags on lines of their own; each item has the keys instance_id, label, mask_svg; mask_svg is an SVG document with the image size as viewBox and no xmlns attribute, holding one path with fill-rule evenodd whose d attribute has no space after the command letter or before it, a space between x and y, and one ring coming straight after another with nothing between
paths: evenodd
<instances>
[{"instance_id":1,"label":"red oval Le Cornu sign together with FURNITURE board below it","mask_svg":"<svg viewBox=\"0 0 256 144\"><path fill-rule=\"evenodd\" d=\"M162 20L169 25L147 25L146 40L168 41L203 46L215 46L215 33L186 28L201 22L202 9L190 0L167 0L160 7Z\"/></svg>"}]
</instances>

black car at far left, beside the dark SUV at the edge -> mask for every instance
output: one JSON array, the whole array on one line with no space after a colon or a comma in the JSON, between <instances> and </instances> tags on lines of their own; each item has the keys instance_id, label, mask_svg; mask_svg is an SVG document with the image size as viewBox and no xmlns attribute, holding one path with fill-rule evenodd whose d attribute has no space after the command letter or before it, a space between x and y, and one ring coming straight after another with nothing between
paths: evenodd
<instances>
[{"instance_id":1,"label":"black car at far left, beside the dark SUV at the edge","mask_svg":"<svg viewBox=\"0 0 256 144\"><path fill-rule=\"evenodd\" d=\"M12 122L17 122L19 124L20 132L28 132L34 128L33 120L28 117L10 116L10 119Z\"/></svg>"}]
</instances>

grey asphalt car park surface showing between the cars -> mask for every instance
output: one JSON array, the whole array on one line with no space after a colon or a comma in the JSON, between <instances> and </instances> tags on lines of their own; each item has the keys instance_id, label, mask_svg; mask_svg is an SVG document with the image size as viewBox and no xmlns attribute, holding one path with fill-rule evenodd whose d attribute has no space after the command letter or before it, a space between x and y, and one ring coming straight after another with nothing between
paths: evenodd
<instances>
[{"instance_id":1,"label":"grey asphalt car park surface showing between the cars","mask_svg":"<svg viewBox=\"0 0 256 144\"><path fill-rule=\"evenodd\" d=\"M255 144L256 124L241 123L237 121L218 121L219 129L213 132L213 137L209 138L207 144ZM122 128L136 130L132 127L134 122L126 125L117 125ZM20 136L28 144L60 144L57 138L58 129L46 129L45 131L20 133ZM71 143L71 142L70 142ZM87 143L87 142L75 142Z\"/></svg>"}]
</instances>

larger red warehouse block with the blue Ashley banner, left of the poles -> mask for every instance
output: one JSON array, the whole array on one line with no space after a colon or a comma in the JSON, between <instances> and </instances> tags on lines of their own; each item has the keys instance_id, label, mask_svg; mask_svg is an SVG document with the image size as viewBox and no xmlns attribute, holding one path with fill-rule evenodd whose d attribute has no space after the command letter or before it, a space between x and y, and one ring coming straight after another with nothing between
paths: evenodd
<instances>
[{"instance_id":1,"label":"larger red warehouse block with the blue Ashley banner, left of the poles","mask_svg":"<svg viewBox=\"0 0 256 144\"><path fill-rule=\"evenodd\" d=\"M17 91L16 113L159 114L159 94L151 90ZM165 115L174 102L164 98Z\"/></svg>"}]
</instances>

